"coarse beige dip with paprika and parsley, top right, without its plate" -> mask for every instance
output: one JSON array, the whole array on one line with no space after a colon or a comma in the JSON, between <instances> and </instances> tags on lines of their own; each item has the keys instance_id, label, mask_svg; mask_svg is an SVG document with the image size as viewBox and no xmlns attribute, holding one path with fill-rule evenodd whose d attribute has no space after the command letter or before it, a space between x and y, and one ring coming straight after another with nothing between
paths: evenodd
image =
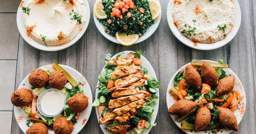
<instances>
[{"instance_id":1,"label":"coarse beige dip with paprika and parsley, top right, without its plate","mask_svg":"<svg viewBox=\"0 0 256 134\"><path fill-rule=\"evenodd\" d=\"M212 43L231 31L236 12L232 0L176 0L173 18L180 32L192 41Z\"/></svg>"}]
</instances>

